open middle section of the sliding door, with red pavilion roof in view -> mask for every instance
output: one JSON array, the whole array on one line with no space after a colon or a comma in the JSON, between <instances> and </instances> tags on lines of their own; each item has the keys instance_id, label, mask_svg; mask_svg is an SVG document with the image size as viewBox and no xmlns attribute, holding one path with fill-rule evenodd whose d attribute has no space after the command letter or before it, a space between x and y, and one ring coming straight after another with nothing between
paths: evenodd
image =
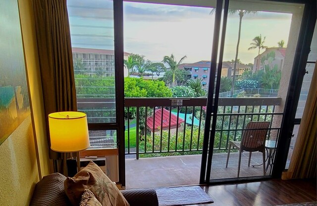
<instances>
[{"instance_id":1,"label":"open middle section of the sliding door, with red pavilion roof in view","mask_svg":"<svg viewBox=\"0 0 317 206\"><path fill-rule=\"evenodd\" d=\"M123 2L127 189L199 183L214 6Z\"/></svg>"}]
</instances>

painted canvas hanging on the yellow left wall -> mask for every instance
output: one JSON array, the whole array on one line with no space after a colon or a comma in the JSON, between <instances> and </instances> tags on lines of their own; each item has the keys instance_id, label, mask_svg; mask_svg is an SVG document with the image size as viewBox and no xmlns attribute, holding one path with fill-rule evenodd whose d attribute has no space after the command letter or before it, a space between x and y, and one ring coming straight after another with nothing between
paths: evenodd
<instances>
[{"instance_id":1,"label":"painted canvas hanging on the yellow left wall","mask_svg":"<svg viewBox=\"0 0 317 206\"><path fill-rule=\"evenodd\" d=\"M17 0L0 1L0 145L30 114Z\"/></svg>"}]
</instances>

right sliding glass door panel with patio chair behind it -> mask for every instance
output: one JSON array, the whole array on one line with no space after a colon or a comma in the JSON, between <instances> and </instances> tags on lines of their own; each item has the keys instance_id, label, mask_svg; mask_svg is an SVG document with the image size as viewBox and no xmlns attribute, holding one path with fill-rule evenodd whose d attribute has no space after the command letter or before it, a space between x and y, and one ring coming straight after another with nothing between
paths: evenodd
<instances>
[{"instance_id":1,"label":"right sliding glass door panel with patio chair behind it","mask_svg":"<svg viewBox=\"0 0 317 206\"><path fill-rule=\"evenodd\" d=\"M303 11L230 0L210 180L271 174Z\"/></svg>"}]
</instances>

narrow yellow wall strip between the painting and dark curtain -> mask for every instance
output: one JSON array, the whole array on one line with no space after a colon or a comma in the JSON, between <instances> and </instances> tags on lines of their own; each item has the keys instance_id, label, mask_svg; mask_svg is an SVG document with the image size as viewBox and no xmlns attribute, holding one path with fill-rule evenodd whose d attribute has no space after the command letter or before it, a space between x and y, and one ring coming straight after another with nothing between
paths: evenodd
<instances>
[{"instance_id":1,"label":"narrow yellow wall strip between the painting and dark curtain","mask_svg":"<svg viewBox=\"0 0 317 206\"><path fill-rule=\"evenodd\" d=\"M32 0L18 0L22 27L22 38L29 83L32 121L36 137L36 149L40 178L48 175L50 170L49 148L46 133L43 91L39 69L39 56L36 44L35 22Z\"/></svg>"}]
</instances>

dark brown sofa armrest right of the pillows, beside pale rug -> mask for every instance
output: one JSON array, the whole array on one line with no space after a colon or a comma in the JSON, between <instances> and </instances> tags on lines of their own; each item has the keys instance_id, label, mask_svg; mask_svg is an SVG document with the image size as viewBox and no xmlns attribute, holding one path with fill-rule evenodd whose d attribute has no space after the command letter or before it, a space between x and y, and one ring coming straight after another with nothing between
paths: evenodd
<instances>
[{"instance_id":1,"label":"dark brown sofa armrest right of the pillows, beside pale rug","mask_svg":"<svg viewBox=\"0 0 317 206\"><path fill-rule=\"evenodd\" d=\"M159 206L155 189L132 189L120 191L130 206Z\"/></svg>"}]
</instances>

